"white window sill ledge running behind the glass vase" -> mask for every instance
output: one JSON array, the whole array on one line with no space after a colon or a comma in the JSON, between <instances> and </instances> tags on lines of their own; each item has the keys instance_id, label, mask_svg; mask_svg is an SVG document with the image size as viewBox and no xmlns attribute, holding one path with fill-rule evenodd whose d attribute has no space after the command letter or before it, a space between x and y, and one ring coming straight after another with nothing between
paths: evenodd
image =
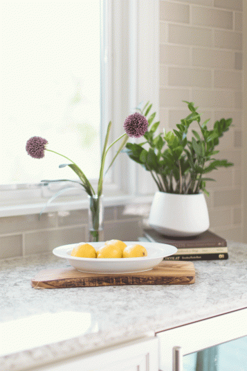
<instances>
[{"instance_id":1,"label":"white window sill ledge running behind the glass vase","mask_svg":"<svg viewBox=\"0 0 247 371\"><path fill-rule=\"evenodd\" d=\"M151 203L153 197L153 195L136 196L123 193L119 193L114 196L104 196L104 207L121 206L127 205L129 203ZM0 205L0 217L39 214L42 211L43 207L46 205L47 201L48 199L44 200L44 198L22 201L15 200L15 202L9 202L8 205ZM87 197L68 196L61 197L60 200L54 200L53 202L51 202L51 204L46 207L44 212L47 213L87 209L88 206L89 201Z\"/></svg>"}]
</instances>

